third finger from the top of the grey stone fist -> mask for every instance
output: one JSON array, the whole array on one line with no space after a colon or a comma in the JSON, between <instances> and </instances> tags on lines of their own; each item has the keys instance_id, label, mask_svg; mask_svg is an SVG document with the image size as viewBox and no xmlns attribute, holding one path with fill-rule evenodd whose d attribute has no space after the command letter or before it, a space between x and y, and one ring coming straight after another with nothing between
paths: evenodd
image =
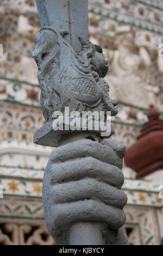
<instances>
[{"instance_id":1,"label":"third finger from the top of the grey stone fist","mask_svg":"<svg viewBox=\"0 0 163 256\"><path fill-rule=\"evenodd\" d=\"M123 209L127 203L127 196L122 190L90 178L54 185L51 194L54 204L96 198Z\"/></svg>"}]
</instances>

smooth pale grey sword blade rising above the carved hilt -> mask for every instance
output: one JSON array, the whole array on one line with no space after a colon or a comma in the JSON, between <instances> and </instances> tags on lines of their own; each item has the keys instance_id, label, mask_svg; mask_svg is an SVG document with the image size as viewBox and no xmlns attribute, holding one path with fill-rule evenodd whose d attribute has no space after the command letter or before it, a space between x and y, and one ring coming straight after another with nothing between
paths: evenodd
<instances>
[{"instance_id":1,"label":"smooth pale grey sword blade rising above the carved hilt","mask_svg":"<svg viewBox=\"0 0 163 256\"><path fill-rule=\"evenodd\" d=\"M78 38L88 38L87 0L36 0L41 27L52 26L55 31L66 33L67 42L77 51L82 50Z\"/></svg>"}]
</instances>

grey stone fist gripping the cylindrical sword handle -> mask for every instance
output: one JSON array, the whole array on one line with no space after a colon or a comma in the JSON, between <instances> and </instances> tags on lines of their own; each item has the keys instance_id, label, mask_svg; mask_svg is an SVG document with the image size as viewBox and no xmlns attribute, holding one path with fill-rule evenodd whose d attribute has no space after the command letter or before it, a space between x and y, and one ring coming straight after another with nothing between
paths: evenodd
<instances>
[{"instance_id":1,"label":"grey stone fist gripping the cylindrical sword handle","mask_svg":"<svg viewBox=\"0 0 163 256\"><path fill-rule=\"evenodd\" d=\"M68 244L68 230L76 222L105 223L105 244L127 243L121 228L127 203L120 190L124 152L124 145L112 139L82 139L52 151L43 177L43 208L57 244Z\"/></svg>"}]
</instances>

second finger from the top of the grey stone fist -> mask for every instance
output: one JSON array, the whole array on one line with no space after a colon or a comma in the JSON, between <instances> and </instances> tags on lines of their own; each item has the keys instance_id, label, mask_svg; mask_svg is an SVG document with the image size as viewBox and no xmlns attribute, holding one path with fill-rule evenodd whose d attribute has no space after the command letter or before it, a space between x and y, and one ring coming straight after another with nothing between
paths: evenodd
<instances>
[{"instance_id":1,"label":"second finger from the top of the grey stone fist","mask_svg":"<svg viewBox=\"0 0 163 256\"><path fill-rule=\"evenodd\" d=\"M48 172L51 173L52 185L85 177L96 178L117 188L121 188L124 182L123 173L118 167L92 157L51 163Z\"/></svg>"}]
</instances>

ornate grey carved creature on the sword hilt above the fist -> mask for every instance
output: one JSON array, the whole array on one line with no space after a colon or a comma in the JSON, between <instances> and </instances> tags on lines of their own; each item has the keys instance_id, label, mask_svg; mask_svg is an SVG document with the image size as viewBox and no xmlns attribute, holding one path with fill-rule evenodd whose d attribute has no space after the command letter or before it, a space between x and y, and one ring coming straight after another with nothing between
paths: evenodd
<instances>
[{"instance_id":1,"label":"ornate grey carved creature on the sword hilt above the fist","mask_svg":"<svg viewBox=\"0 0 163 256\"><path fill-rule=\"evenodd\" d=\"M43 27L36 34L32 53L38 66L41 109L46 121L54 111L111 111L117 114L116 100L108 97L109 85L103 79L108 59L102 48L79 36L82 51L77 53L66 41L67 31Z\"/></svg>"}]
</instances>

